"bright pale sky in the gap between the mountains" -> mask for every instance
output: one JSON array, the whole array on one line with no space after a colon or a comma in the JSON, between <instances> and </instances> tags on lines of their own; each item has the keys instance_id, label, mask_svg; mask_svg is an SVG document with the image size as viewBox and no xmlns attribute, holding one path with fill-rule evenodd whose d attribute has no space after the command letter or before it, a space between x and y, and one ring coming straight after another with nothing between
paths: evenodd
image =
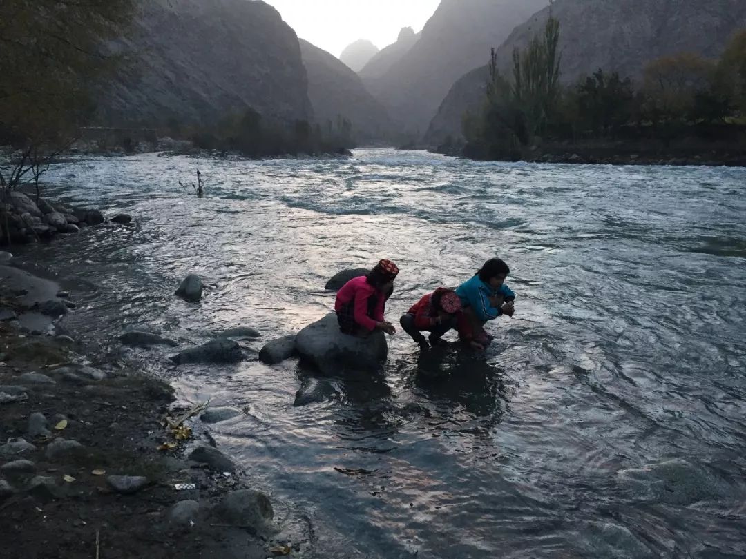
<instances>
[{"instance_id":1,"label":"bright pale sky in the gap between the mountains","mask_svg":"<svg viewBox=\"0 0 746 559\"><path fill-rule=\"evenodd\" d=\"M338 57L358 39L378 48L395 42L403 27L419 33L440 0L264 0L298 37Z\"/></svg>"}]
</instances>

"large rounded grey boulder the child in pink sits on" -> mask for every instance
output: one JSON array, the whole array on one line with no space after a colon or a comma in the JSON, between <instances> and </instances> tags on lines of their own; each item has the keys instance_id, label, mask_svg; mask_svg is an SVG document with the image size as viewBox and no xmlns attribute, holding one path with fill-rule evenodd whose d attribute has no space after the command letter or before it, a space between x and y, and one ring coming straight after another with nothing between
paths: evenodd
<instances>
[{"instance_id":1,"label":"large rounded grey boulder the child in pink sits on","mask_svg":"<svg viewBox=\"0 0 746 559\"><path fill-rule=\"evenodd\" d=\"M389 351L386 335L378 330L366 338L342 334L333 312L298 332L295 348L325 374L378 370Z\"/></svg>"}]
</instances>

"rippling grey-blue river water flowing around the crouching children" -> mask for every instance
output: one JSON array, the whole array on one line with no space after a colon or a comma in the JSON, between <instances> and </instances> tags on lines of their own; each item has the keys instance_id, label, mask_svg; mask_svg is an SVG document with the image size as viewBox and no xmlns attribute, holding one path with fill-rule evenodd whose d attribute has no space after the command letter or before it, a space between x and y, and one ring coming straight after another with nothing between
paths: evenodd
<instances>
[{"instance_id":1,"label":"rippling grey-blue river water flowing around the crouching children","mask_svg":"<svg viewBox=\"0 0 746 559\"><path fill-rule=\"evenodd\" d=\"M478 163L359 150L350 160L81 159L51 198L134 216L28 247L80 286L76 335L138 327L186 347L232 326L255 344L333 308L343 268L401 268L392 322L505 259L515 318L486 355L420 354L398 332L385 382L130 358L181 397L245 414L211 432L324 558L746 555L746 169ZM173 292L188 273L201 303ZM169 353L170 352L170 353ZM364 470L349 476L334 468Z\"/></svg>"}]
</instances>

